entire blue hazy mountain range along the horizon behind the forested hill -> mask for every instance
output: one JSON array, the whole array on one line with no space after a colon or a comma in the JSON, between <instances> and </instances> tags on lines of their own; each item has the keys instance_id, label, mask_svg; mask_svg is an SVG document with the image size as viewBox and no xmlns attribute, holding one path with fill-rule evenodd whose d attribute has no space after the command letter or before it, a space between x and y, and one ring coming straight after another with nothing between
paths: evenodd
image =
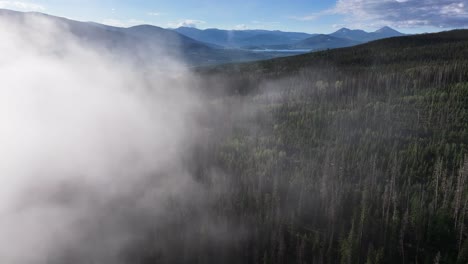
<instances>
[{"instance_id":1,"label":"entire blue hazy mountain range along the horizon behind the forested hill","mask_svg":"<svg viewBox=\"0 0 468 264\"><path fill-rule=\"evenodd\" d=\"M342 28L329 35L278 30L164 29L153 25L121 28L37 12L0 9L3 23L21 23L28 18L53 21L84 44L110 50L138 64L151 64L167 56L178 57L188 65L256 61L404 35L389 27L375 32Z\"/></svg>"}]
</instances>

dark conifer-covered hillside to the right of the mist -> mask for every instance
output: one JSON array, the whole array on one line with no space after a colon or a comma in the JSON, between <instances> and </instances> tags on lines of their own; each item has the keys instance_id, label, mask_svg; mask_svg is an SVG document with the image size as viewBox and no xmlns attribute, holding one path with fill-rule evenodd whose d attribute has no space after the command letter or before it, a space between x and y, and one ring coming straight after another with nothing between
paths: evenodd
<instances>
[{"instance_id":1,"label":"dark conifer-covered hillside to the right of the mist","mask_svg":"<svg viewBox=\"0 0 468 264\"><path fill-rule=\"evenodd\" d=\"M173 204L131 260L468 262L468 31L198 74L210 202Z\"/></svg>"}]
</instances>

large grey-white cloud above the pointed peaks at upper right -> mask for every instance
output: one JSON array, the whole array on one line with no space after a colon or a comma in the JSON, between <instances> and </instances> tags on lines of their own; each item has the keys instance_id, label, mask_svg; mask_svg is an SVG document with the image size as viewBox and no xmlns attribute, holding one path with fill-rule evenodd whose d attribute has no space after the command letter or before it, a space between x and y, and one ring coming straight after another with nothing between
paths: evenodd
<instances>
[{"instance_id":1,"label":"large grey-white cloud above the pointed peaks at upper right","mask_svg":"<svg viewBox=\"0 0 468 264\"><path fill-rule=\"evenodd\" d=\"M466 0L338 0L330 13L352 23L458 28L468 26L467 5Z\"/></svg>"}]
</instances>

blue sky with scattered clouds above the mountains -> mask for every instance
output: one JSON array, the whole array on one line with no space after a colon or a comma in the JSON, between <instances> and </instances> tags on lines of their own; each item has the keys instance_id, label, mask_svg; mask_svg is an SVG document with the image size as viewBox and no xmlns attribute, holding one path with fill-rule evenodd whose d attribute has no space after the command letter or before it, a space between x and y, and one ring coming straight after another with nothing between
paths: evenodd
<instances>
[{"instance_id":1,"label":"blue sky with scattered clouds above the mountains","mask_svg":"<svg viewBox=\"0 0 468 264\"><path fill-rule=\"evenodd\" d=\"M28 0L0 8L129 27L151 24L331 33L383 26L404 33L468 28L468 0Z\"/></svg>"}]
</instances>

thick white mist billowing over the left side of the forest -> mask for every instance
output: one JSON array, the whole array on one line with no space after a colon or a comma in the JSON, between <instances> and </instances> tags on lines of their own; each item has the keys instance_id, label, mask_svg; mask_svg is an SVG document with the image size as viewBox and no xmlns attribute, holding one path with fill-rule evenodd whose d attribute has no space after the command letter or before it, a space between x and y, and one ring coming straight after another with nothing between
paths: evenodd
<instances>
[{"instance_id":1,"label":"thick white mist billowing over the left side of the forest","mask_svg":"<svg viewBox=\"0 0 468 264\"><path fill-rule=\"evenodd\" d=\"M170 199L201 200L182 61L137 68L40 16L0 20L0 49L1 263L120 263Z\"/></svg>"}]
</instances>

